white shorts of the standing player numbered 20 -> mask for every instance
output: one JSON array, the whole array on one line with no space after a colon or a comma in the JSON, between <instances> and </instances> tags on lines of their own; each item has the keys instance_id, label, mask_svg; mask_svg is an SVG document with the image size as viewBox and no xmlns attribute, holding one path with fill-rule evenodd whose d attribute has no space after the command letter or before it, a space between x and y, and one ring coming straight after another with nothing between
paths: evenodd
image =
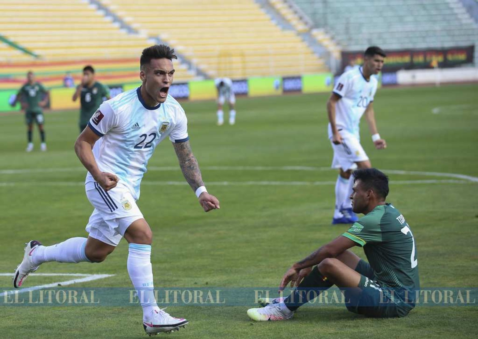
<instances>
[{"instance_id":1,"label":"white shorts of the standing player numbered 20","mask_svg":"<svg viewBox=\"0 0 478 339\"><path fill-rule=\"evenodd\" d=\"M334 149L334 159L332 160L332 168L341 168L342 170L355 170L356 162L369 160L367 153L360 145L359 139L347 131L339 131L342 137L342 143L335 145L330 139L330 144Z\"/></svg>"}]
</instances>

